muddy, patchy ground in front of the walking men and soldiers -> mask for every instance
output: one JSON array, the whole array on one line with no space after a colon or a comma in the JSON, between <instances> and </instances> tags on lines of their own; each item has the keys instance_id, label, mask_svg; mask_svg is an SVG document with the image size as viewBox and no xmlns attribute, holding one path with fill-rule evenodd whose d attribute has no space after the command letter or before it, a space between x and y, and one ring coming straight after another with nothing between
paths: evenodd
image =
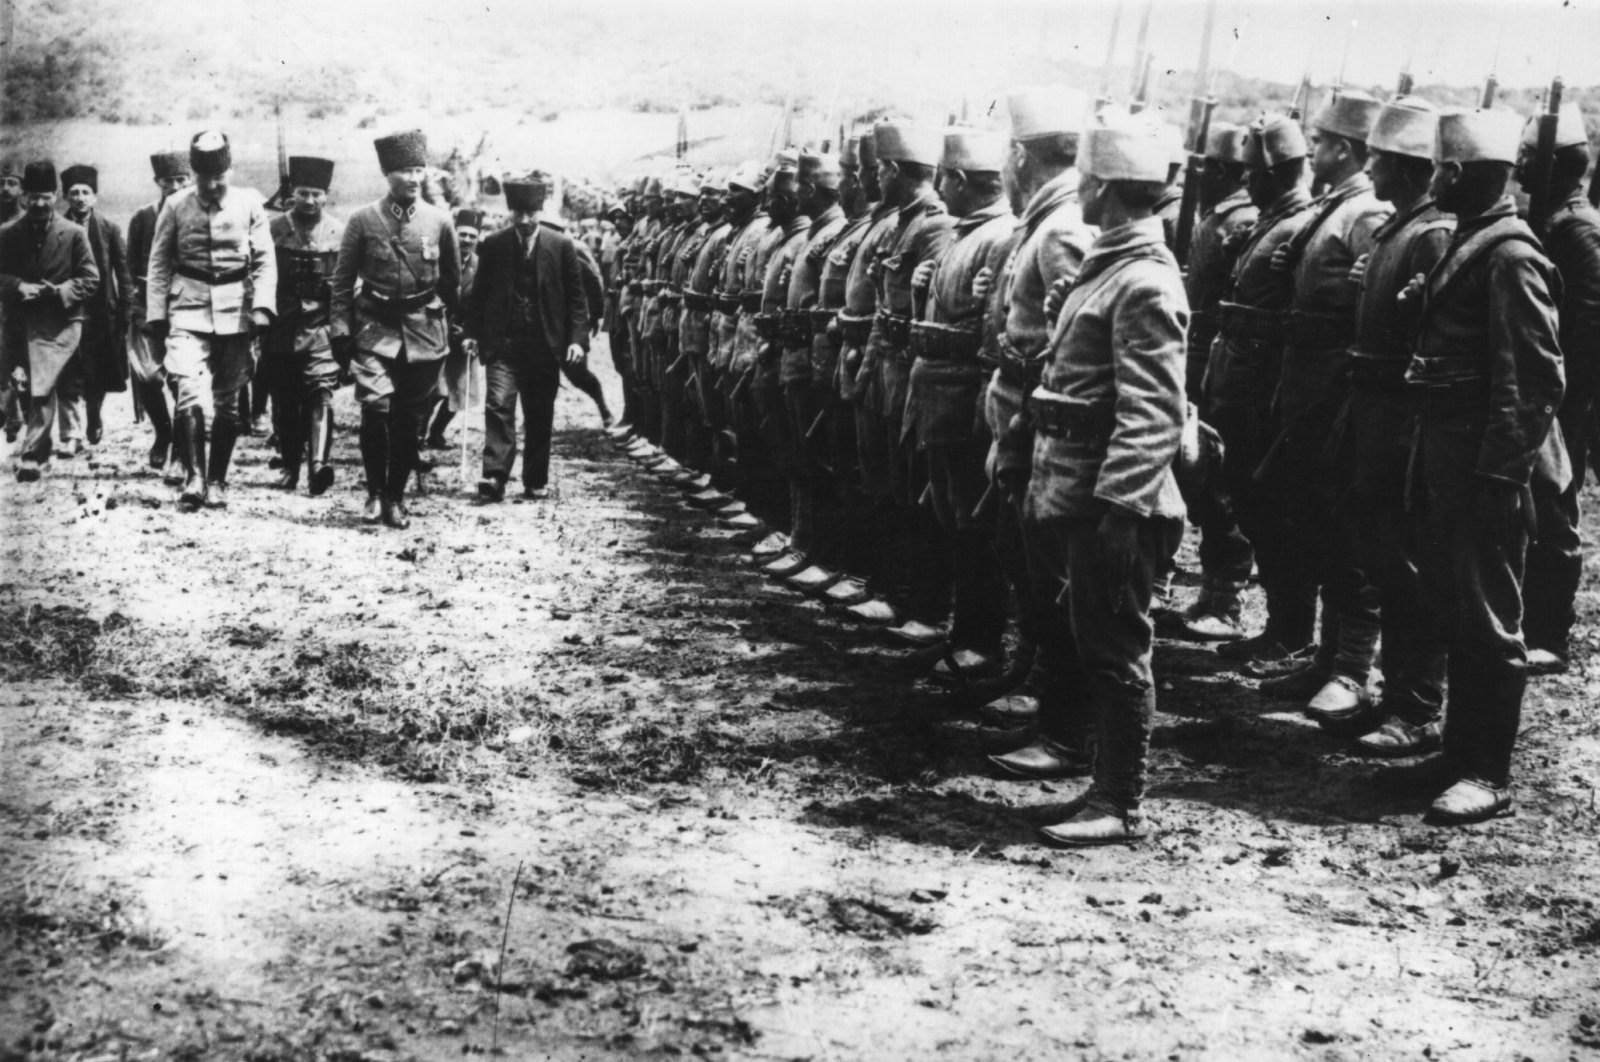
<instances>
[{"instance_id":1,"label":"muddy, patchy ground in front of the walking men and soldiers","mask_svg":"<svg viewBox=\"0 0 1600 1062\"><path fill-rule=\"evenodd\" d=\"M0 1059L1600 1057L1594 576L1515 817L1424 827L1163 643L1157 833L1059 852L1074 784L573 392L550 501L454 451L406 533L349 432L325 499L258 438L181 513L112 406L0 483Z\"/></svg>"}]
</instances>

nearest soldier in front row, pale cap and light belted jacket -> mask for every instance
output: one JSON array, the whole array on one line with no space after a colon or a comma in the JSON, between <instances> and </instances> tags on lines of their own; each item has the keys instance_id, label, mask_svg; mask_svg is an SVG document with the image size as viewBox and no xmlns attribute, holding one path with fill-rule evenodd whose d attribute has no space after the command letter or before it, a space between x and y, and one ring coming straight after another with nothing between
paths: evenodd
<instances>
[{"instance_id":1,"label":"nearest soldier in front row, pale cap and light belted jacket","mask_svg":"<svg viewBox=\"0 0 1600 1062\"><path fill-rule=\"evenodd\" d=\"M1102 110L1085 136L1080 202L1099 226L1030 395L1037 425L1026 520L1050 587L1069 600L1066 640L1046 643L1094 721L1094 781L1040 830L1064 846L1142 836L1155 715L1150 595L1182 537L1173 459L1184 432L1184 328L1178 262L1150 211L1166 187L1166 130ZM1050 710L1059 710L1051 702ZM1042 709L1045 733L1061 733ZM1070 726L1072 721L1067 721Z\"/></svg>"}]
</instances>

